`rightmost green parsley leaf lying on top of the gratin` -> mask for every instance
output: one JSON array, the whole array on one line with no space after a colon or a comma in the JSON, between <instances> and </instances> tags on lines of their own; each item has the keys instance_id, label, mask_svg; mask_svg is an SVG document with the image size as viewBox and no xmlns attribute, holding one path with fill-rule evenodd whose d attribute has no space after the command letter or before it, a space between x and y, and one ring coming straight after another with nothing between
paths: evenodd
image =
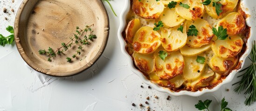
<instances>
[{"instance_id":1,"label":"rightmost green parsley leaf lying on top of the gratin","mask_svg":"<svg viewBox=\"0 0 256 111\"><path fill-rule=\"evenodd\" d=\"M224 29L222 26L218 27L218 31L216 28L213 27L213 34L215 36L217 36L217 40L221 39L221 40L225 40L228 38L228 34L227 34L227 29Z\"/></svg>"}]
</instances>

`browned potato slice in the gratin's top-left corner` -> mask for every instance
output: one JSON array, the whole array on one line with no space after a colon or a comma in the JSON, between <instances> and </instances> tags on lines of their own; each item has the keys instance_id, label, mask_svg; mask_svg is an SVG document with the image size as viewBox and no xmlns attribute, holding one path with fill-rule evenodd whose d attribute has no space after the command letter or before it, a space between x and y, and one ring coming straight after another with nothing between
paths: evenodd
<instances>
[{"instance_id":1,"label":"browned potato slice in the gratin's top-left corner","mask_svg":"<svg viewBox=\"0 0 256 111\"><path fill-rule=\"evenodd\" d=\"M133 0L132 10L144 19L158 19L165 5L157 0Z\"/></svg>"}]
</instances>

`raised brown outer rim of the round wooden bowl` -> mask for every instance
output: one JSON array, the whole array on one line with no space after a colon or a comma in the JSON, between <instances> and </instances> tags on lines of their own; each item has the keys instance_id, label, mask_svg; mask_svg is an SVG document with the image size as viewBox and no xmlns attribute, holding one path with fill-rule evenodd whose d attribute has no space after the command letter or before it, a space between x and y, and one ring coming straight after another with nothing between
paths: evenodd
<instances>
[{"instance_id":1,"label":"raised brown outer rim of the round wooden bowl","mask_svg":"<svg viewBox=\"0 0 256 111\"><path fill-rule=\"evenodd\" d=\"M110 29L110 27L109 27L109 17L108 17L106 9L104 7L104 4L101 0L96 0L97 4L99 4L99 6L100 6L99 11L102 11L103 14L104 14L104 23L105 23L104 24L104 38L103 38L104 41L100 46L99 52L96 54L96 56L94 56L94 58L92 58L90 60L90 62L85 64L82 68L79 68L79 69L71 71L71 72L57 72L57 73L49 72L46 69L35 67L36 66L35 63L31 61L31 59L24 52L24 49L21 46L20 37L19 37L20 18L21 18L21 13L22 13L24 7L29 3L29 1L30 0L23 0L23 2L21 3L21 6L19 7L19 10L17 12L17 15L15 17L15 21L14 21L14 41L15 41L16 47L17 47L22 59L28 64L28 66L35 69L37 72L40 72L42 74L46 74L46 75L49 75L49 76L68 77L68 76L73 76L73 75L81 73L82 71L90 68L95 62L97 62L97 60L99 59L99 57L104 52L104 49L107 45L108 37L109 37L109 29Z\"/></svg>"}]
</instances>

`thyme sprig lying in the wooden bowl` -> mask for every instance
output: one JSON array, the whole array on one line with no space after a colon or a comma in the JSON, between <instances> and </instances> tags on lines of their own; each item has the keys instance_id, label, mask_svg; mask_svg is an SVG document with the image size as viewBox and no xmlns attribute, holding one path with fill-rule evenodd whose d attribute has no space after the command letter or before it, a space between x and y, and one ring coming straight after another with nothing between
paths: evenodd
<instances>
[{"instance_id":1,"label":"thyme sprig lying in the wooden bowl","mask_svg":"<svg viewBox=\"0 0 256 111\"><path fill-rule=\"evenodd\" d=\"M90 45L89 40L93 41L93 39L97 38L96 35L93 34L93 31L91 30L91 27L94 25L90 26L85 26L84 29L79 28L78 26L76 27L76 34L73 34L74 37L69 37L70 41L68 43L61 43L61 47L56 49L56 51L53 51L51 47L48 48L48 51L45 49L40 49L38 52L41 55L48 56L48 61L51 62L54 57L61 56L64 54L65 51L67 51L69 48L72 47L72 45L76 44L79 45L77 47L76 53L73 54L72 58L76 58L77 55L81 55L81 51L83 50L85 45ZM82 36L82 33L85 33L85 36ZM71 57L67 57L67 62L72 62Z\"/></svg>"}]
</instances>

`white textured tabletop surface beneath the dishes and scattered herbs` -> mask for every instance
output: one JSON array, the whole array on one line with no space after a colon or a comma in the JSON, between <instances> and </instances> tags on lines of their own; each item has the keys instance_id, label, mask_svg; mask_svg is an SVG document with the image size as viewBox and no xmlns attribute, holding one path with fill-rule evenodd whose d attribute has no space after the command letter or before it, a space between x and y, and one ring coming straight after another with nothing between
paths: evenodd
<instances>
[{"instance_id":1,"label":"white textured tabletop surface beneath the dishes and scattered herbs","mask_svg":"<svg viewBox=\"0 0 256 111\"><path fill-rule=\"evenodd\" d=\"M5 27L14 25L15 14L22 0L0 0L0 33L7 36ZM114 10L120 15L124 0L110 1ZM252 18L256 18L256 1L248 0ZM110 18L110 37L103 56L89 70L73 77L48 78L48 84L42 84L36 72L25 65L16 46L0 46L0 111L197 111L194 105L198 100L212 99L212 111L219 111L223 97L233 111L253 111L256 104L245 106L245 95L234 92L239 81L224 85L214 93L200 97L171 96L148 89L136 74L128 68L127 59L121 53L117 31L119 19L104 2ZM3 7L8 13L3 13ZM11 9L14 12L11 12ZM8 20L4 18L7 17ZM254 24L256 21L254 21ZM255 31L256 32L256 31ZM256 40L256 37L254 37ZM249 61L245 67L249 65ZM237 74L238 76L240 74ZM144 86L141 88L140 86ZM230 89L230 91L226 91ZM157 95L159 99L155 99ZM151 97L146 100L146 97ZM145 105L148 101L148 105ZM136 106L131 106L135 103ZM145 107L140 108L142 103Z\"/></svg>"}]
</instances>

